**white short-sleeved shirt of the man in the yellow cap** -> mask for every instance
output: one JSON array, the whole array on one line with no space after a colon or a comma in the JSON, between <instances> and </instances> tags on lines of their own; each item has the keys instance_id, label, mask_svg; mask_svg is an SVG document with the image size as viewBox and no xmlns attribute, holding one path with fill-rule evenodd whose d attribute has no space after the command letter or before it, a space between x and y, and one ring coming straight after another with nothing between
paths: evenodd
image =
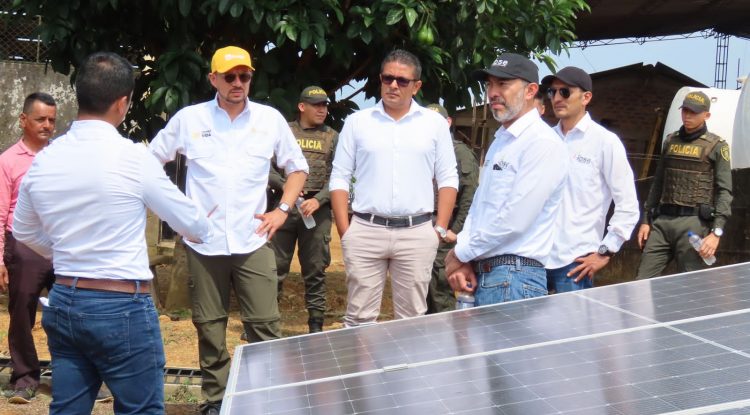
<instances>
[{"instance_id":1,"label":"white short-sleeved shirt of the man in the yellow cap","mask_svg":"<svg viewBox=\"0 0 750 415\"><path fill-rule=\"evenodd\" d=\"M286 174L308 172L284 117L250 100L234 120L217 98L185 107L149 147L162 164L177 154L187 158L186 193L206 212L213 210L213 238L203 244L186 242L203 255L246 254L266 243L265 235L255 233L261 223L255 215L266 211L273 156Z\"/></svg>"}]
</instances>

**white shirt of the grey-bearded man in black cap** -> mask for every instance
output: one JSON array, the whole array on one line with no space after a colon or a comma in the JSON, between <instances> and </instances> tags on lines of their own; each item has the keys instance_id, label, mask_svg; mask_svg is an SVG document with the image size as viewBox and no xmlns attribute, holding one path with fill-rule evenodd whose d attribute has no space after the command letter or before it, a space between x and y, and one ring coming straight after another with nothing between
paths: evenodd
<instances>
[{"instance_id":1,"label":"white shirt of the grey-bearded man in black cap","mask_svg":"<svg viewBox=\"0 0 750 415\"><path fill-rule=\"evenodd\" d=\"M535 110L497 130L458 234L461 262L519 255L547 263L568 171L564 154L560 138Z\"/></svg>"}]
</instances>

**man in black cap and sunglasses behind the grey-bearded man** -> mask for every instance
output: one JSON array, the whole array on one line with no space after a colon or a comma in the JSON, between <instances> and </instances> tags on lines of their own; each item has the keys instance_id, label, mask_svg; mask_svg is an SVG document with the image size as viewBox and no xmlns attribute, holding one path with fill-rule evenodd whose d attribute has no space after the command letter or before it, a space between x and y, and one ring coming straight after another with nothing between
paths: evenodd
<instances>
[{"instance_id":1,"label":"man in black cap and sunglasses behind the grey-bearded man","mask_svg":"<svg viewBox=\"0 0 750 415\"><path fill-rule=\"evenodd\" d=\"M554 130L565 143L570 166L547 263L548 288L560 293L593 286L594 274L630 239L638 197L622 142L586 111L593 96L589 74L568 66L546 76L542 85L560 120Z\"/></svg>"}]
</instances>

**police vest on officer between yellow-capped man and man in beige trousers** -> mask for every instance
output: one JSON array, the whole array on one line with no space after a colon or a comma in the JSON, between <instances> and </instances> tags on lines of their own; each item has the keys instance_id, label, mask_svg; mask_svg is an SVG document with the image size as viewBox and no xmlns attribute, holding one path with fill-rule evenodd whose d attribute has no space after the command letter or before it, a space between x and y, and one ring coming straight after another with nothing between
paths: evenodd
<instances>
[{"instance_id":1,"label":"police vest on officer between yellow-capped man and man in beige trousers","mask_svg":"<svg viewBox=\"0 0 750 415\"><path fill-rule=\"evenodd\" d=\"M333 138L336 132L328 127L305 130L299 122L289 123L297 143L305 154L310 174L305 181L304 192L319 192L328 183L333 168Z\"/></svg>"}]
</instances>

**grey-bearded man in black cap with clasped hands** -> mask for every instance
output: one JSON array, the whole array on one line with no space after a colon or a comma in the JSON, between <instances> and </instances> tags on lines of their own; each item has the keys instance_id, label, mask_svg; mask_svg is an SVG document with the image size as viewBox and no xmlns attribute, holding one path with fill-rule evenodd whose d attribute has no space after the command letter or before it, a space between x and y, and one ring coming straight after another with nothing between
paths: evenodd
<instances>
[{"instance_id":1,"label":"grey-bearded man in black cap with clasped hands","mask_svg":"<svg viewBox=\"0 0 750 415\"><path fill-rule=\"evenodd\" d=\"M528 58L504 53L474 73L502 124L487 150L479 188L456 247L448 282L474 292L476 305L547 294L544 265L568 164L559 137L539 116L539 73Z\"/></svg>"}]
</instances>

